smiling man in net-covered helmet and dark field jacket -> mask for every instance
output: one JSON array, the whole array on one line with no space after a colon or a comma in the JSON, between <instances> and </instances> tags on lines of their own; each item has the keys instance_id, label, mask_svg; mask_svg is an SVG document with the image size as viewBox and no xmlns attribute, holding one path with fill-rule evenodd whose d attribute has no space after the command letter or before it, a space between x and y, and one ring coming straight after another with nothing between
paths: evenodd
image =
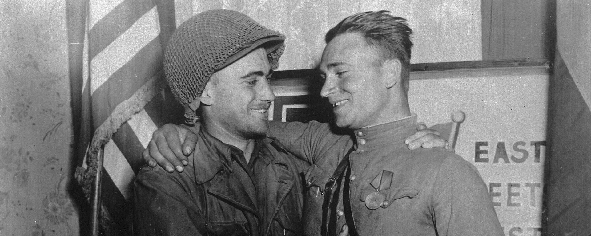
<instances>
[{"instance_id":1,"label":"smiling man in net-covered helmet and dark field jacket","mask_svg":"<svg viewBox=\"0 0 591 236\"><path fill-rule=\"evenodd\" d=\"M138 235L301 235L307 163L267 132L268 78L285 37L236 11L202 12L174 32L164 70L187 123L200 120L186 171L142 168Z\"/></svg>"}]
</instances>

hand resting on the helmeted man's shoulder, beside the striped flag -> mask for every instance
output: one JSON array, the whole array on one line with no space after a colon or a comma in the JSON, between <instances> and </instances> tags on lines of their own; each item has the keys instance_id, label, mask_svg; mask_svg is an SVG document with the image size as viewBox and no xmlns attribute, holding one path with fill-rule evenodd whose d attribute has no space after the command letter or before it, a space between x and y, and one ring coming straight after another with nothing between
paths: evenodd
<instances>
[{"instance_id":1,"label":"hand resting on the helmeted man's shoulder, beside the striped flag","mask_svg":"<svg viewBox=\"0 0 591 236\"><path fill-rule=\"evenodd\" d=\"M197 135L188 126L164 124L152 134L152 140L142 152L142 158L151 167L160 165L169 173L175 169L183 172L183 165L189 163L187 156L191 155L196 143Z\"/></svg>"}]
</instances>

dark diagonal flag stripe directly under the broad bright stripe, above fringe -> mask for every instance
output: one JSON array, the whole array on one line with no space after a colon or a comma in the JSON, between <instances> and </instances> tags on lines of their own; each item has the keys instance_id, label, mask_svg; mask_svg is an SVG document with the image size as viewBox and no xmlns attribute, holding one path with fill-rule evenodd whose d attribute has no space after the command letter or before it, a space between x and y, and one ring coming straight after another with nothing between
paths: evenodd
<instances>
[{"instance_id":1,"label":"dark diagonal flag stripe directly under the broad bright stripe, above fringe","mask_svg":"<svg viewBox=\"0 0 591 236\"><path fill-rule=\"evenodd\" d=\"M92 94L95 127L105 122L119 103L129 99L150 78L160 73L160 50L160 41L157 37L95 90Z\"/></svg>"}]
</instances>

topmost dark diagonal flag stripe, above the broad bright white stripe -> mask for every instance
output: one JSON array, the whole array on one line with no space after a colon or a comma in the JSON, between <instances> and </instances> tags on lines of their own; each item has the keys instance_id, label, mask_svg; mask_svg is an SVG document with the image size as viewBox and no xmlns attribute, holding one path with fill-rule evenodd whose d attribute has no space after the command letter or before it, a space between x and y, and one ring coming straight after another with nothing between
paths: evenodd
<instances>
[{"instance_id":1,"label":"topmost dark diagonal flag stripe, above the broad bright white stripe","mask_svg":"<svg viewBox=\"0 0 591 236\"><path fill-rule=\"evenodd\" d=\"M88 33L89 59L95 58L96 54L108 47L155 5L153 0L125 0L115 6L109 14L96 22Z\"/></svg>"}]
</instances>

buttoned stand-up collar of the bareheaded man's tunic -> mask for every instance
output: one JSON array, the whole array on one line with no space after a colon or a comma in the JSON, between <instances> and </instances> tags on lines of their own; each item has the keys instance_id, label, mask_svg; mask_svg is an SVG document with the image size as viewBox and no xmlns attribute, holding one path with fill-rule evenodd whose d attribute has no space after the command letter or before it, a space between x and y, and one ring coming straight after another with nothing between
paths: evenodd
<instances>
[{"instance_id":1,"label":"buttoned stand-up collar of the bareheaded man's tunic","mask_svg":"<svg viewBox=\"0 0 591 236\"><path fill-rule=\"evenodd\" d=\"M353 134L355 136L355 150L362 153L384 145L402 143L408 136L417 132L416 126L417 114L413 113L411 116L395 122L356 129Z\"/></svg>"}]
</instances>

